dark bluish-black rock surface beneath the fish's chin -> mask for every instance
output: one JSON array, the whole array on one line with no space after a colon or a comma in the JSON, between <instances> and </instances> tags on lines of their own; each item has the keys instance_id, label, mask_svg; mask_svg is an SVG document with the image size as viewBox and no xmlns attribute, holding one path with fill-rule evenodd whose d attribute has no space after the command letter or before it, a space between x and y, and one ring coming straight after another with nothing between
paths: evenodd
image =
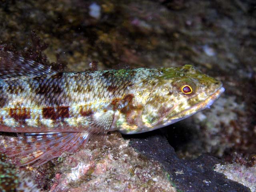
<instances>
[{"instance_id":1,"label":"dark bluish-black rock surface beneath the fish's chin","mask_svg":"<svg viewBox=\"0 0 256 192\"><path fill-rule=\"evenodd\" d=\"M213 166L221 162L217 158L202 155L194 160L182 160L177 157L166 138L157 135L157 132L145 134L144 141L140 141L141 138L132 138L130 145L147 157L158 160L170 174L170 180L177 190L250 191L249 188L227 179L223 174L214 172Z\"/></svg>"}]
</instances>

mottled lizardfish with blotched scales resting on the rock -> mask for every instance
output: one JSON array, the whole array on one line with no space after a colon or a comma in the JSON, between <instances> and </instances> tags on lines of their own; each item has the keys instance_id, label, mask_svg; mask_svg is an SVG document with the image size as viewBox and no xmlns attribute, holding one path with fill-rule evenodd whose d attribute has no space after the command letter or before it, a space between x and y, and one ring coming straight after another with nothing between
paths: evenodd
<instances>
[{"instance_id":1,"label":"mottled lizardfish with blotched scales resting on the rock","mask_svg":"<svg viewBox=\"0 0 256 192\"><path fill-rule=\"evenodd\" d=\"M110 131L137 134L183 120L224 90L192 65L58 72L0 52L0 132L18 133L0 151L18 166L39 166Z\"/></svg>"}]
</instances>

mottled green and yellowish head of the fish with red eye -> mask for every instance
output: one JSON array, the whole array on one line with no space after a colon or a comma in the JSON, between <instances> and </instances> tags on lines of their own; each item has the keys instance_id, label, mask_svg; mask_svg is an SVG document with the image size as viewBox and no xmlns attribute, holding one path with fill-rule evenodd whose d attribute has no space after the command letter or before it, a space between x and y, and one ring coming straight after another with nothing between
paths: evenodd
<instances>
[{"instance_id":1,"label":"mottled green and yellowish head of the fish with red eye","mask_svg":"<svg viewBox=\"0 0 256 192\"><path fill-rule=\"evenodd\" d=\"M142 122L148 130L141 132L187 118L209 107L224 92L219 80L191 65L159 70L157 84L142 111Z\"/></svg>"}]
</instances>

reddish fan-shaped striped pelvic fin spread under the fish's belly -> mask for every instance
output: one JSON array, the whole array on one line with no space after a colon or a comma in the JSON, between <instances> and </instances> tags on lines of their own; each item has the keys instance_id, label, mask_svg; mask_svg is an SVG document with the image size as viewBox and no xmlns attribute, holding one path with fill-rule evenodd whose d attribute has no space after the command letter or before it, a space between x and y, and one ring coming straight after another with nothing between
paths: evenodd
<instances>
[{"instance_id":1,"label":"reddish fan-shaped striped pelvic fin spread under the fish's belly","mask_svg":"<svg viewBox=\"0 0 256 192\"><path fill-rule=\"evenodd\" d=\"M62 152L75 152L88 141L89 134L81 132L26 133L10 142L5 154L18 166L34 163L39 166L58 157Z\"/></svg>"}]
</instances>

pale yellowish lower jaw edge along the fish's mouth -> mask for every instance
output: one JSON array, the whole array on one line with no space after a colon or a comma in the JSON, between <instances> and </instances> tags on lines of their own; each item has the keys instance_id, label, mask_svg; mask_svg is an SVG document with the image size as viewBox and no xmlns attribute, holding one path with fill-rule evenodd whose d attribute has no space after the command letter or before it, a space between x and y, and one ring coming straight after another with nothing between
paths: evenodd
<instances>
[{"instance_id":1,"label":"pale yellowish lower jaw edge along the fish's mouth","mask_svg":"<svg viewBox=\"0 0 256 192\"><path fill-rule=\"evenodd\" d=\"M176 114L174 116L167 117L168 120L165 122L162 121L162 125L158 126L158 128L173 124L173 123L183 120L189 116L192 116L193 114L196 114L197 112L200 112L200 111L204 110L205 108L209 108L214 103L214 101L220 97L220 95L224 91L225 91L225 88L220 87L218 90L216 90L213 94L211 94L204 101L198 102L197 104L193 105L192 107L190 107L186 110L183 110L182 112L179 112L178 114Z\"/></svg>"}]
</instances>

